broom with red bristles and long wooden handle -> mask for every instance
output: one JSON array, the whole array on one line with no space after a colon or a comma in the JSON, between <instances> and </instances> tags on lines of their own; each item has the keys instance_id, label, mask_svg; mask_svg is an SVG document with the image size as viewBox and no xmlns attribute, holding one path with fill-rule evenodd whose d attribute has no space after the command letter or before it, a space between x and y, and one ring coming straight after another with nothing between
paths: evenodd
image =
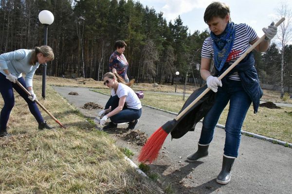
<instances>
[{"instance_id":1,"label":"broom with red bristles and long wooden handle","mask_svg":"<svg viewBox=\"0 0 292 194\"><path fill-rule=\"evenodd\" d=\"M279 26L285 20L282 17L275 26ZM254 45L247 49L228 69L226 69L222 75L219 76L221 80L226 76L248 53L250 53L256 46L265 39L266 35L263 35L258 39ZM140 155L138 157L139 162L143 163L152 163L158 157L159 151L162 148L162 145L167 137L167 135L177 126L180 119L208 92L209 88L205 89L200 96L198 96L192 103L190 103L181 113L177 115L173 120L167 121L162 127L157 129L147 140L146 144L142 147Z\"/></svg>"}]
</instances>

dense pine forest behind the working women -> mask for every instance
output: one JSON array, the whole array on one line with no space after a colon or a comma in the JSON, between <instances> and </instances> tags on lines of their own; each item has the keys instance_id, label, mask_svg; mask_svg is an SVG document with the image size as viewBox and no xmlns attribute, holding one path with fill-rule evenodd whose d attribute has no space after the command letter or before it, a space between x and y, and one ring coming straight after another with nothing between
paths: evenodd
<instances>
[{"instance_id":1,"label":"dense pine forest behind the working women","mask_svg":"<svg viewBox=\"0 0 292 194\"><path fill-rule=\"evenodd\" d=\"M179 71L178 81L187 78L201 85L201 47L208 29L191 34L180 16L167 23L163 13L133 0L0 0L0 53L43 45L44 26L38 20L42 10L55 16L48 28L47 44L55 53L47 67L50 76L100 81L109 70L114 42L125 40L130 79L173 84ZM254 53L261 83L288 86L290 91L292 45L284 43L273 42L265 53ZM42 74L42 65L37 74Z\"/></svg>"}]
</instances>

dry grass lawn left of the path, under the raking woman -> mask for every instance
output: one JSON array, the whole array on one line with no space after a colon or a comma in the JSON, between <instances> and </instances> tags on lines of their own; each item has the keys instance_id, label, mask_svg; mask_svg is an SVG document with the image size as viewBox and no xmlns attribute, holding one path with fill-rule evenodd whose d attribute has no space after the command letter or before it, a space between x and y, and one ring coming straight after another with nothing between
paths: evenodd
<instances>
[{"instance_id":1,"label":"dry grass lawn left of the path, under the raking woman","mask_svg":"<svg viewBox=\"0 0 292 194\"><path fill-rule=\"evenodd\" d=\"M50 78L49 78L50 79ZM41 96L41 82L34 81ZM37 130L25 101L16 95L8 131L0 138L1 194L154 194L151 181L141 177L123 159L115 142L97 131L50 86L39 100L67 129ZM0 106L3 100L0 98Z\"/></svg>"}]
</instances>

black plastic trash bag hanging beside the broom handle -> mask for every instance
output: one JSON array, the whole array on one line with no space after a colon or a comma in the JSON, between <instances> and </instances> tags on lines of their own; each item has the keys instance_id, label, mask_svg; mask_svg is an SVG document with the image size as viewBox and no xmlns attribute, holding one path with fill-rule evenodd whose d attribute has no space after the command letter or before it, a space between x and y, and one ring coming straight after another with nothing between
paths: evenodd
<instances>
[{"instance_id":1,"label":"black plastic trash bag hanging beside the broom handle","mask_svg":"<svg viewBox=\"0 0 292 194\"><path fill-rule=\"evenodd\" d=\"M207 84L195 90L185 101L181 113L189 104L191 104L201 93L207 89ZM196 124L208 113L215 103L216 93L210 90L193 107L191 107L181 118L178 124L171 131L171 139L181 138L188 131L193 131Z\"/></svg>"}]
</instances>

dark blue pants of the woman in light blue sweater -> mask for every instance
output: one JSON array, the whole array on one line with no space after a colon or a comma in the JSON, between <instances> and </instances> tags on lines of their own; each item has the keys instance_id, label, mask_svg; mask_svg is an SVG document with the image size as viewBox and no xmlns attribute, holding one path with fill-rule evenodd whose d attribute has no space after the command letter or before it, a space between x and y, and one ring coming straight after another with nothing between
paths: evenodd
<instances>
[{"instance_id":1,"label":"dark blue pants of the woman in light blue sweater","mask_svg":"<svg viewBox=\"0 0 292 194\"><path fill-rule=\"evenodd\" d=\"M18 78L18 81L26 88L26 84L23 77ZM37 108L36 102L31 101L28 98L28 95L18 86L18 84L7 80L6 76L0 73L0 93L4 100L4 106L0 113L0 126L1 126L0 131L3 131L6 129L10 112L12 108L14 107L15 99L14 99L12 88L14 88L15 91L26 101L30 112L35 116L37 122L38 123L44 122L44 119Z\"/></svg>"}]
</instances>

